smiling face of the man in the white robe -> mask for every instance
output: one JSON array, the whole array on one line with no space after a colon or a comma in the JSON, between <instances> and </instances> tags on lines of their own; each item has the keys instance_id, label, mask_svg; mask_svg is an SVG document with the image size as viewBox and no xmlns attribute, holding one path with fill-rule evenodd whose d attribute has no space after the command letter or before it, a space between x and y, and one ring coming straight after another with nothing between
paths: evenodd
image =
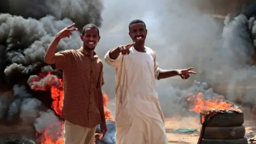
<instances>
[{"instance_id":1,"label":"smiling face of the man in the white robe","mask_svg":"<svg viewBox=\"0 0 256 144\"><path fill-rule=\"evenodd\" d=\"M129 35L133 42L142 43L145 42L147 36L147 29L144 23L138 22L130 25Z\"/></svg>"}]
</instances>

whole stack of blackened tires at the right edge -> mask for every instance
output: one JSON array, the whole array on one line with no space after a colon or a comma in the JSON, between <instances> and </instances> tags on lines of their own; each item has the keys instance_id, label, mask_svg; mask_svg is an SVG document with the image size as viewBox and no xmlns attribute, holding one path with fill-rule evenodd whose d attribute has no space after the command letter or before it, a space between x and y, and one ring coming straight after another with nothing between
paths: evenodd
<instances>
[{"instance_id":1,"label":"whole stack of blackened tires at the right edge","mask_svg":"<svg viewBox=\"0 0 256 144\"><path fill-rule=\"evenodd\" d=\"M218 113L205 122L201 144L247 144L243 124L244 114L232 111Z\"/></svg>"}]
</instances>

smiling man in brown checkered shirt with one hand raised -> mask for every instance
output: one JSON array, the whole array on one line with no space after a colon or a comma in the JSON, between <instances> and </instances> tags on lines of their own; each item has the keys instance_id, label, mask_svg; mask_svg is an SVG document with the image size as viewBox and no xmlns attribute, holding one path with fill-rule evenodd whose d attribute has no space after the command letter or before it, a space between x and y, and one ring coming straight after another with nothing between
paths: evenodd
<instances>
[{"instance_id":1,"label":"smiling man in brown checkered shirt with one hand raised","mask_svg":"<svg viewBox=\"0 0 256 144\"><path fill-rule=\"evenodd\" d=\"M82 29L83 46L80 49L55 53L60 40L70 37L77 30L74 26L75 23L54 37L44 61L54 64L55 69L63 70L65 98L61 117L65 119L64 143L92 144L96 125L100 124L100 139L107 131L101 91L104 84L103 64L94 52L100 35L97 26L88 24Z\"/></svg>"}]
</instances>

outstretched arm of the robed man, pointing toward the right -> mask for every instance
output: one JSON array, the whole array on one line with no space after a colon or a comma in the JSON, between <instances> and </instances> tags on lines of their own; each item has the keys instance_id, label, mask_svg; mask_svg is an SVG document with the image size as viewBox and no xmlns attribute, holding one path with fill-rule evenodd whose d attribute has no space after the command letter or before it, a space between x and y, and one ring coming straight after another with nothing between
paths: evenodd
<instances>
[{"instance_id":1,"label":"outstretched arm of the robed man, pointing toward the right","mask_svg":"<svg viewBox=\"0 0 256 144\"><path fill-rule=\"evenodd\" d=\"M156 54L154 53L154 70L155 70L155 78L156 79L164 79L173 76L180 76L182 79L189 78L189 74L196 74L194 71L191 71L194 68L188 69L173 69L173 70L164 70L158 67L158 63L156 60Z\"/></svg>"}]
</instances>

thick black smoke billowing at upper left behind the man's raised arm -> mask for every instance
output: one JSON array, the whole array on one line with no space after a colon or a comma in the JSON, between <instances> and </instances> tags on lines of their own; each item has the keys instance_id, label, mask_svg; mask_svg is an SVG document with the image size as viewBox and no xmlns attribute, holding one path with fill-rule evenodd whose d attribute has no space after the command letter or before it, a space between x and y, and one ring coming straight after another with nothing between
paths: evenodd
<instances>
[{"instance_id":1,"label":"thick black smoke billowing at upper left behind the man's raised arm","mask_svg":"<svg viewBox=\"0 0 256 144\"><path fill-rule=\"evenodd\" d=\"M55 34L75 22L101 26L101 1L15 1L0 2L0 87L10 89L30 75L52 71L43 57ZM63 39L57 51L77 49L79 33Z\"/></svg>"}]
</instances>

